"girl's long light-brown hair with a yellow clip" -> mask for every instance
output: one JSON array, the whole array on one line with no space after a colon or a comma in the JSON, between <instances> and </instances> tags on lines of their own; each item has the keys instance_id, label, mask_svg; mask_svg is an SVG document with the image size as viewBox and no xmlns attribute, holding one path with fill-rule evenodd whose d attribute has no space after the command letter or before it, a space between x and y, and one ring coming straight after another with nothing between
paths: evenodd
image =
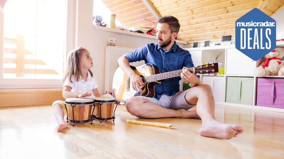
<instances>
[{"instance_id":1,"label":"girl's long light-brown hair with a yellow clip","mask_svg":"<svg viewBox=\"0 0 284 159\"><path fill-rule=\"evenodd\" d=\"M63 82L65 82L67 78L71 81L72 75L74 75L74 78L76 81L79 81L80 76L83 76L82 71L81 71L80 60L81 60L81 55L84 50L86 49L82 47L78 47L74 50L71 50L68 53L67 59L66 59L66 66L64 69ZM90 72L91 77L93 77L93 72L90 69L88 69L88 71Z\"/></svg>"}]
</instances>

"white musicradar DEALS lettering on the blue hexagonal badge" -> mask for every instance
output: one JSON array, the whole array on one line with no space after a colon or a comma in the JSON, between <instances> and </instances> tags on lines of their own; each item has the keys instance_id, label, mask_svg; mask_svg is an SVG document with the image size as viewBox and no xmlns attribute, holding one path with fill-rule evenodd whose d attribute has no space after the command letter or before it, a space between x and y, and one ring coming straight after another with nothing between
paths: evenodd
<instances>
[{"instance_id":1,"label":"white musicradar DEALS lettering on the blue hexagonal badge","mask_svg":"<svg viewBox=\"0 0 284 159\"><path fill-rule=\"evenodd\" d=\"M275 26L275 22L237 22L237 27L274 27ZM253 39L253 47L250 46L250 40L252 40L252 38L250 37L250 31L252 31L252 28L241 28L241 49L246 49L246 39L248 40L247 42L247 49L259 49L259 45L260 45L260 49L270 49L271 48L271 40L269 38L268 35L271 35L271 29L270 28L260 28L260 30L258 30L259 28L254 28L254 39ZM262 39L262 34L264 34L262 32L262 30L265 29L265 35L268 41L265 43L265 48L263 47L264 43L262 43L263 39ZM260 31L260 38L258 38L258 32ZM247 32L247 33L246 33ZM247 36L247 38L246 38ZM243 39L244 37L244 39ZM260 44L259 44L260 43Z\"/></svg>"}]
</instances>

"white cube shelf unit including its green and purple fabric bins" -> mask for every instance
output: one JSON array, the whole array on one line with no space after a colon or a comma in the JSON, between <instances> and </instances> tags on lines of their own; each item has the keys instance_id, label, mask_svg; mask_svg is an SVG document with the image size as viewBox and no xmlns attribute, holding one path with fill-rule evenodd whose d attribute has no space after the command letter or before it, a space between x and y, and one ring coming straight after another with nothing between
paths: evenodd
<instances>
[{"instance_id":1,"label":"white cube shelf unit including its green and purple fabric bins","mask_svg":"<svg viewBox=\"0 0 284 159\"><path fill-rule=\"evenodd\" d=\"M284 41L277 41L276 47L284 47ZM280 99L284 96L283 91L280 91L284 89L284 76L270 75L260 78L254 73L264 58L253 61L237 50L234 44L186 50L191 53L195 66L208 61L222 63L224 74L200 76L203 84L211 86L216 104L284 112L284 101Z\"/></svg>"}]
</instances>

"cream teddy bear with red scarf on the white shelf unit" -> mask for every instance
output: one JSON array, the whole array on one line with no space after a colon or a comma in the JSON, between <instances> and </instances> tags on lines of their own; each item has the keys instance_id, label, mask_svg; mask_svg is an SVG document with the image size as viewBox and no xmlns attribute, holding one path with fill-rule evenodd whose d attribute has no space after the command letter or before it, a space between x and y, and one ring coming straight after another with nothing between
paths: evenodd
<instances>
[{"instance_id":1,"label":"cream teddy bear with red scarf on the white shelf unit","mask_svg":"<svg viewBox=\"0 0 284 159\"><path fill-rule=\"evenodd\" d=\"M264 56L266 60L262 61L260 65L255 68L254 74L256 77L265 77L268 75L284 76L284 49L276 47L270 53Z\"/></svg>"}]
</instances>

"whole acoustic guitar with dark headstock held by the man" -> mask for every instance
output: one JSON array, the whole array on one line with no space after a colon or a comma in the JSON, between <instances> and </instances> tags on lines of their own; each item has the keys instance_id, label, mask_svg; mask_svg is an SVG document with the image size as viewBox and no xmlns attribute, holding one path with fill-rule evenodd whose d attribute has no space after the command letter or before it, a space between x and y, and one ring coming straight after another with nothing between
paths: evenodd
<instances>
[{"instance_id":1,"label":"whole acoustic guitar with dark headstock held by the man","mask_svg":"<svg viewBox=\"0 0 284 159\"><path fill-rule=\"evenodd\" d=\"M114 73L112 81L112 96L116 98L119 105L125 102L132 96L147 96L154 97L154 87L161 83L161 80L177 77L181 75L182 70L161 73L157 66L152 64L144 64L138 67L130 66L131 69L142 78L144 85L140 86L142 91L136 92L130 85L130 78L125 74L120 67ZM187 68L191 73L209 74L218 72L218 63L200 65L197 67Z\"/></svg>"}]
</instances>

